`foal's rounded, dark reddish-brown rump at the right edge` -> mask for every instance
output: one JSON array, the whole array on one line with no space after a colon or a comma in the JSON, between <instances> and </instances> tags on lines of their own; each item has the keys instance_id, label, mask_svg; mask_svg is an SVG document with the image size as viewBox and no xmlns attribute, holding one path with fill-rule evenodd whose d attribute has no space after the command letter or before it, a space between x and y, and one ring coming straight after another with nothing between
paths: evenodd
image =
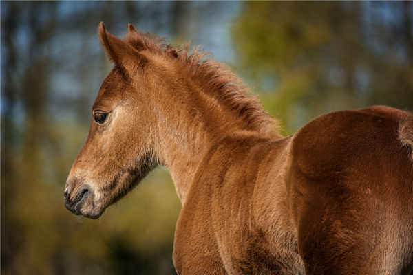
<instances>
[{"instance_id":1,"label":"foal's rounded, dark reddish-brown rump at the right edge","mask_svg":"<svg viewBox=\"0 0 413 275\"><path fill-rule=\"evenodd\" d=\"M293 136L288 206L308 274L409 274L413 115L370 107Z\"/></svg>"}]
</instances>

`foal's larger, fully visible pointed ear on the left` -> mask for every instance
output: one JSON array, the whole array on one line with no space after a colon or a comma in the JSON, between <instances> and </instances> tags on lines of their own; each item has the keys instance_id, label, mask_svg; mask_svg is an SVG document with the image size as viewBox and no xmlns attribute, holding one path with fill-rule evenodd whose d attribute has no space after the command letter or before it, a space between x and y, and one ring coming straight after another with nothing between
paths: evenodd
<instances>
[{"instance_id":1,"label":"foal's larger, fully visible pointed ear on the left","mask_svg":"<svg viewBox=\"0 0 413 275\"><path fill-rule=\"evenodd\" d=\"M132 28L134 27L132 26ZM138 67L142 67L142 64L146 63L146 58L138 50L122 39L109 34L103 22L99 24L98 36L109 60L118 67L125 69L126 72L135 72Z\"/></svg>"}]
</instances>

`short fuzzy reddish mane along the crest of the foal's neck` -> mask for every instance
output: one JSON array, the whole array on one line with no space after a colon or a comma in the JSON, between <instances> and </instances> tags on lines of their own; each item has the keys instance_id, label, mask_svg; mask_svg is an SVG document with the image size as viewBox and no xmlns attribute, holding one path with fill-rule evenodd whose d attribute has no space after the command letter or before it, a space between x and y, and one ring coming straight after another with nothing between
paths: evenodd
<instances>
[{"instance_id":1,"label":"short fuzzy reddish mane along the crest of the foal's neck","mask_svg":"<svg viewBox=\"0 0 413 275\"><path fill-rule=\"evenodd\" d=\"M189 43L173 47L165 39L142 32L129 32L125 40L136 50L145 50L174 60L182 64L194 80L198 81L206 93L223 102L225 106L238 118L241 118L248 129L262 133L275 133L278 130L277 120L271 118L262 108L257 96L244 81L223 63L215 61L208 52L203 52L199 47L189 48Z\"/></svg>"}]
</instances>

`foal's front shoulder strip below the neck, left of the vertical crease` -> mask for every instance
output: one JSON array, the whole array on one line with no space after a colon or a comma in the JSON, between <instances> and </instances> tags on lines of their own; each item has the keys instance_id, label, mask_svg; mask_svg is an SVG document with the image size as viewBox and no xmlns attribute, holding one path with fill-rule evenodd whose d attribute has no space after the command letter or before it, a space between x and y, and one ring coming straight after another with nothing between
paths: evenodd
<instances>
[{"instance_id":1,"label":"foal's front shoulder strip below the neck, left of the vertical crease","mask_svg":"<svg viewBox=\"0 0 413 275\"><path fill-rule=\"evenodd\" d=\"M173 247L173 262L178 274L227 273L213 217L221 211L214 203L215 192L233 165L236 149L229 143L226 139L209 149L182 205Z\"/></svg>"}]
</instances>

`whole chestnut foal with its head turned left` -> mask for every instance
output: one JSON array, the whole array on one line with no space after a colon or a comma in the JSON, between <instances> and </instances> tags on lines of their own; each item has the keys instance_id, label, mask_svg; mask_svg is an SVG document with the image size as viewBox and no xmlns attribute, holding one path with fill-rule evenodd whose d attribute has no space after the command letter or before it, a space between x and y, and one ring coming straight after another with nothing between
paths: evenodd
<instances>
[{"instance_id":1,"label":"whole chestnut foal with its head turned left","mask_svg":"<svg viewBox=\"0 0 413 275\"><path fill-rule=\"evenodd\" d=\"M225 65L129 25L65 186L96 219L158 165L182 202L178 274L411 274L413 114L339 111L282 137Z\"/></svg>"}]
</instances>

